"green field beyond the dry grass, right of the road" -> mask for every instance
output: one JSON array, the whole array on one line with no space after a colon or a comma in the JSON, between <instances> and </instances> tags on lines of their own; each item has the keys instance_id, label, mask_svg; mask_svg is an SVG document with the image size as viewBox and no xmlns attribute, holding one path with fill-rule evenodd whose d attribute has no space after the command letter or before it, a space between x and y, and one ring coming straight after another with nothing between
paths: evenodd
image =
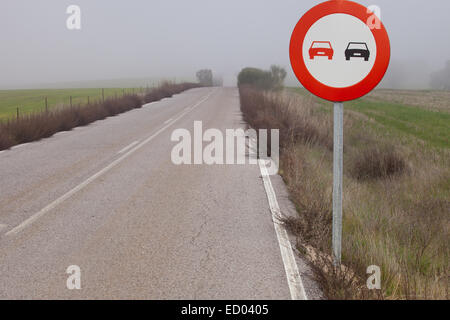
<instances>
[{"instance_id":1,"label":"green field beyond the dry grass, right of the road","mask_svg":"<svg viewBox=\"0 0 450 320\"><path fill-rule=\"evenodd\" d=\"M292 90L309 95L303 88ZM364 98L345 103L345 109L363 114L374 121L379 130L414 137L432 147L450 148L450 101L447 93L428 93L429 98L425 99L423 91L398 91L395 94L395 90L376 90ZM420 104L407 104L410 102L407 99L411 96ZM320 100L324 109L331 112L331 103L319 98L317 100ZM430 108L437 102L441 102L439 109Z\"/></svg>"}]
</instances>

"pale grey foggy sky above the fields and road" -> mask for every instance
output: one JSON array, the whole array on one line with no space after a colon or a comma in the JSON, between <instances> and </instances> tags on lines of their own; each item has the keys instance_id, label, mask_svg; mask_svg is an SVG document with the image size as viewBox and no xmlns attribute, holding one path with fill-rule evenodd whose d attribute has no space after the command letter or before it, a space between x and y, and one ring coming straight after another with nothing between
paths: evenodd
<instances>
[{"instance_id":1,"label":"pale grey foggy sky above the fields and road","mask_svg":"<svg viewBox=\"0 0 450 320\"><path fill-rule=\"evenodd\" d=\"M242 67L289 71L289 40L313 0L2 0L0 88L144 85L211 68L234 85ZM450 60L448 0L360 0L378 5L392 45L383 87L427 88ZM81 30L66 9L81 8ZM132 80L134 79L134 80ZM108 80L99 82L99 80ZM106 84L103 84L106 83Z\"/></svg>"}]
</instances>

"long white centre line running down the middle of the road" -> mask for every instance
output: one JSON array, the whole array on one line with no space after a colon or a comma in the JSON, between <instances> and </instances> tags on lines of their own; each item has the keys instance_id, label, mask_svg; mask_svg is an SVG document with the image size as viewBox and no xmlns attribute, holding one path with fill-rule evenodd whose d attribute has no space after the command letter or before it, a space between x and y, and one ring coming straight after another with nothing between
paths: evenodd
<instances>
[{"instance_id":1,"label":"long white centre line running down the middle of the road","mask_svg":"<svg viewBox=\"0 0 450 320\"><path fill-rule=\"evenodd\" d=\"M203 102L205 102L206 100L209 99L209 97L215 92L216 90L210 92L206 97L202 98L200 101L198 101L193 108L197 108L199 105L201 105ZM43 209L41 209L39 212L35 213L34 215L32 215L31 217L29 217L28 219L26 219L25 221L23 221L21 224L19 224L18 226L14 227L13 229L11 229L10 231L8 231L5 236L12 236L15 235L17 233L19 233L20 231L22 231L23 229L25 229L27 226L31 225L33 222L35 222L37 219L39 219L40 217L42 217L43 215L45 215L46 213L48 213L50 210L54 209L55 207L57 207L59 204L61 204L62 202L64 202L65 200L69 199L71 196L73 196L75 193L77 193L78 191L82 190L84 187L86 187L88 184L90 184L92 181L96 180L98 177L102 176L103 174L105 174L106 172L108 172L109 170L111 170L112 168L114 168L115 166L117 166L119 163L121 163L123 160L125 160L126 158L128 158L131 154L135 153L137 150L141 149L143 146L145 146L147 143L149 143L150 141L152 141L156 136L158 136L160 133L162 133L164 130L166 130L167 128L169 128L172 124L174 124L175 122L177 122L178 120L180 120L184 115L186 114L186 112L181 112L181 114L179 116L177 116L174 120L172 120L171 122L169 122L168 124L166 124L165 126L163 126L162 128L160 128L158 131L156 131L154 134L152 134L150 137L148 137L147 139L145 139L143 142L141 142L140 144L138 144L136 147L134 147L133 149L131 149L130 151L128 151L127 153L125 153L124 155L122 155L120 158L114 160L112 163L110 163L108 166L106 166L105 168L103 168L102 170L100 170L99 172L97 172L96 174L92 175L91 177L89 177L88 179L86 179L84 182L80 183L79 185L77 185L75 188L73 188L72 190L68 191L67 193L65 193L64 195L62 195L61 197L59 197L58 199L56 199L55 201L53 201L52 203L50 203L49 205L47 205L46 207L44 207Z\"/></svg>"}]
</instances>

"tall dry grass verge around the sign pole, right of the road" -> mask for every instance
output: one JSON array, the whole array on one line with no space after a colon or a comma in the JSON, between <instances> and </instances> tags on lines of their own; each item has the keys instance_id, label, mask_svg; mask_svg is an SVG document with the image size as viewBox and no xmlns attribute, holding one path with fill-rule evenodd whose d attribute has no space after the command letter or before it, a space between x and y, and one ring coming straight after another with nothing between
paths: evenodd
<instances>
[{"instance_id":1,"label":"tall dry grass verge around the sign pole, right of the road","mask_svg":"<svg viewBox=\"0 0 450 320\"><path fill-rule=\"evenodd\" d=\"M300 95L241 88L252 126L281 132L280 173L298 216L285 222L331 299L448 299L450 168L448 150L396 142L346 112L343 264L331 263L332 115ZM311 256L310 254L307 254ZM366 269L382 271L368 290Z\"/></svg>"}]
</instances>

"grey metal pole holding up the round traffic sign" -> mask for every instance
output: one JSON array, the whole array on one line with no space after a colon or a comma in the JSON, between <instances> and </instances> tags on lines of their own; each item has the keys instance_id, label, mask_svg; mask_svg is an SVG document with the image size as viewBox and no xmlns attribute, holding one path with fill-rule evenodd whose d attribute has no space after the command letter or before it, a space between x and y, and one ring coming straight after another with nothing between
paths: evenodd
<instances>
[{"instance_id":1,"label":"grey metal pole holding up the round traffic sign","mask_svg":"<svg viewBox=\"0 0 450 320\"><path fill-rule=\"evenodd\" d=\"M342 172L344 153L344 104L334 104L333 151L333 262L341 264L342 243Z\"/></svg>"}]
</instances>

